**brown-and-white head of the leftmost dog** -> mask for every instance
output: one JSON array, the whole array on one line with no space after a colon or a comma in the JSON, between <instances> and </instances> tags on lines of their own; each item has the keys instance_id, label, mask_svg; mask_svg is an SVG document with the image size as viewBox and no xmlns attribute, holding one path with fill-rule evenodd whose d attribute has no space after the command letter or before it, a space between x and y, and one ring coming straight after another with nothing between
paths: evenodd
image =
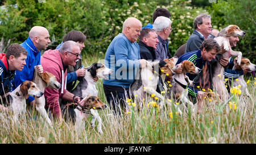
<instances>
[{"instance_id":1,"label":"brown-and-white head of the leftmost dog","mask_svg":"<svg viewBox=\"0 0 256 155\"><path fill-rule=\"evenodd\" d=\"M36 84L32 81L24 81L20 85L20 94L24 98L28 98L28 96L40 98L43 96L43 92L36 87Z\"/></svg>"}]
</instances>

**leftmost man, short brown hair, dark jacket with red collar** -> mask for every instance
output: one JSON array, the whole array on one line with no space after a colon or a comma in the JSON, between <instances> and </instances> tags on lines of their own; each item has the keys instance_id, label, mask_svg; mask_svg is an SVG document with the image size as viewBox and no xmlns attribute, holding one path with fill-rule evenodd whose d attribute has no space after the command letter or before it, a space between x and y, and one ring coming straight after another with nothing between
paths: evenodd
<instances>
[{"instance_id":1,"label":"leftmost man, short brown hair, dark jacket with red collar","mask_svg":"<svg viewBox=\"0 0 256 155\"><path fill-rule=\"evenodd\" d=\"M0 94L2 102L7 103L8 95L13 85L11 80L14 78L15 70L21 71L26 65L27 51L19 44L11 44L6 53L0 53ZM3 108L0 101L0 109Z\"/></svg>"}]
</instances>

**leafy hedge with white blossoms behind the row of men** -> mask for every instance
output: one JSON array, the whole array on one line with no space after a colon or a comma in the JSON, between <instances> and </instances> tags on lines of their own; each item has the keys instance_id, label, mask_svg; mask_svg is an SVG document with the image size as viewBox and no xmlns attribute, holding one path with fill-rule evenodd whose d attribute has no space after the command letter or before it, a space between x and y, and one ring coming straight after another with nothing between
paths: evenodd
<instances>
[{"instance_id":1,"label":"leafy hedge with white blossoms behind the row of men","mask_svg":"<svg viewBox=\"0 0 256 155\"><path fill-rule=\"evenodd\" d=\"M207 13L207 10L192 7L191 1L184 0L9 0L3 3L5 7L0 9L0 37L3 36L5 45L9 39L11 43L22 43L30 28L39 25L49 30L52 41L49 48L55 48L68 31L79 30L86 35L83 53L97 52L102 56L114 36L122 31L123 21L130 16L138 18L146 26L147 23L152 23L152 13L156 8L164 7L169 10L174 30L171 32L168 48L174 55L176 49L191 35L196 15ZM212 7L213 9L208 8L210 14L214 17L220 14L212 21L213 26L220 28L228 20L216 22L225 17L221 11L216 12L220 7L218 3L213 3ZM241 41L242 43L244 42Z\"/></svg>"}]
</instances>

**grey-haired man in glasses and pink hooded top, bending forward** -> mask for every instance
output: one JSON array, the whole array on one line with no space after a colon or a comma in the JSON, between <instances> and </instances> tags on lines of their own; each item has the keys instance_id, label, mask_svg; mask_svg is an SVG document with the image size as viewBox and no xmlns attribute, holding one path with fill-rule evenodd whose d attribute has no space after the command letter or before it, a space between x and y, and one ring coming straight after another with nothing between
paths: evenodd
<instances>
[{"instance_id":1,"label":"grey-haired man in glasses and pink hooded top, bending forward","mask_svg":"<svg viewBox=\"0 0 256 155\"><path fill-rule=\"evenodd\" d=\"M79 97L69 93L65 89L67 84L67 68L68 65L75 66L76 61L80 58L80 47L75 41L66 41L60 49L44 52L41 57L41 64L44 68L44 72L52 73L58 82L61 83L61 89L56 90L47 87L44 90L44 97L46 98L46 107L51 110L51 114L55 118L61 119L61 110L59 104L59 98L74 102L74 100L80 101Z\"/></svg>"}]
</instances>

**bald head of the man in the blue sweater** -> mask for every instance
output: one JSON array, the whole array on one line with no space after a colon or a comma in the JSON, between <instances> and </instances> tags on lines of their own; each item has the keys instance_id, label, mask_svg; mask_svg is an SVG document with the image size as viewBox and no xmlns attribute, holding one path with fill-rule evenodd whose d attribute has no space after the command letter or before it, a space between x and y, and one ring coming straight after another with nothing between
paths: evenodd
<instances>
[{"instance_id":1,"label":"bald head of the man in the blue sweater","mask_svg":"<svg viewBox=\"0 0 256 155\"><path fill-rule=\"evenodd\" d=\"M134 43L137 41L138 36L141 35L142 23L137 18L127 18L125 22L123 22L122 33Z\"/></svg>"}]
</instances>

